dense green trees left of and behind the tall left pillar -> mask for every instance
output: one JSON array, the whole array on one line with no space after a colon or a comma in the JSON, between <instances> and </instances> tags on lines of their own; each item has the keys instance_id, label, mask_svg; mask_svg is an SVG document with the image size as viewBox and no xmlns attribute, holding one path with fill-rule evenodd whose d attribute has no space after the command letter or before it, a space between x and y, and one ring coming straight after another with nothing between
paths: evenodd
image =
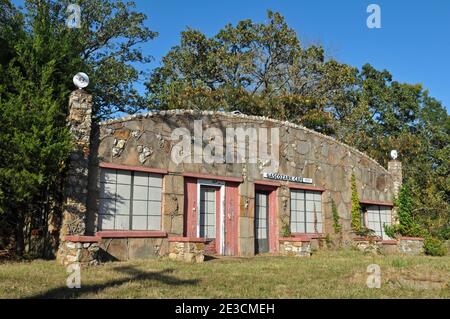
<instances>
[{"instance_id":1,"label":"dense green trees left of and behind the tall left pillar","mask_svg":"<svg viewBox=\"0 0 450 319\"><path fill-rule=\"evenodd\" d=\"M145 15L133 2L81 0L81 28L68 28L71 2L27 0L17 9L0 0L0 245L19 254L30 229L46 234L60 208L73 75L90 76L98 118L142 107L134 63L149 57L137 45L156 35Z\"/></svg>"}]
</instances>

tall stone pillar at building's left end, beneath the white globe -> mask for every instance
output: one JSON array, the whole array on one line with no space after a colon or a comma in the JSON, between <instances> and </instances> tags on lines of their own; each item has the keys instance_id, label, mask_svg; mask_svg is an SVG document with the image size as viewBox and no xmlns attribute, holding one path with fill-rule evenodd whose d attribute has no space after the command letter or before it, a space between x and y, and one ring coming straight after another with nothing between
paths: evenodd
<instances>
[{"instance_id":1,"label":"tall stone pillar at building's left end, beneath the white globe","mask_svg":"<svg viewBox=\"0 0 450 319\"><path fill-rule=\"evenodd\" d=\"M69 156L60 242L68 235L84 235L88 200L89 148L92 96L78 89L69 97L67 125L74 149ZM61 250L61 249L60 249Z\"/></svg>"}]
</instances>

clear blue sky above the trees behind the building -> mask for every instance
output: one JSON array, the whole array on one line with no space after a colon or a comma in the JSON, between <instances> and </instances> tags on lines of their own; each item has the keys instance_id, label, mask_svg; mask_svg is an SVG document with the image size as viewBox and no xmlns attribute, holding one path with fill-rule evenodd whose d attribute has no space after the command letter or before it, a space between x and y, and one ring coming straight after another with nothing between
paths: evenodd
<instances>
[{"instance_id":1,"label":"clear blue sky above the trees behind the building","mask_svg":"<svg viewBox=\"0 0 450 319\"><path fill-rule=\"evenodd\" d=\"M369 29L366 8L381 7L381 29ZM207 35L242 19L264 21L280 12L305 44L322 44L329 55L360 68L388 69L394 80L422 83L450 109L450 1L448 0L191 0L137 1L158 38L143 45L158 66L192 27Z\"/></svg>"}]
</instances>

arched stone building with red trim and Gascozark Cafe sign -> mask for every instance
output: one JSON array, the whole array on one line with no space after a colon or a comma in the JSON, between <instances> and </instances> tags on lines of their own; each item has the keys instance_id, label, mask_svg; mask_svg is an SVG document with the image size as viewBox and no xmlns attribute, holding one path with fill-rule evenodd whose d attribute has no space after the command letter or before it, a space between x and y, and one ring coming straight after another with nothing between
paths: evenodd
<instances>
[{"instance_id":1,"label":"arched stone building with red trim and Gascozark Cafe sign","mask_svg":"<svg viewBox=\"0 0 450 319\"><path fill-rule=\"evenodd\" d=\"M388 239L383 225L393 222L400 162L386 169L305 127L226 112L150 112L108 120L82 134L90 130L80 114L90 122L90 99L78 90L71 101L77 116L70 125L79 140L63 244L92 246L119 260L177 249L189 258L196 258L196 249L235 256L283 253L288 242L294 244L287 250L301 251L312 239L337 236L332 201L341 242L349 243L352 174L363 223ZM59 254L67 255L64 245Z\"/></svg>"}]
</instances>

